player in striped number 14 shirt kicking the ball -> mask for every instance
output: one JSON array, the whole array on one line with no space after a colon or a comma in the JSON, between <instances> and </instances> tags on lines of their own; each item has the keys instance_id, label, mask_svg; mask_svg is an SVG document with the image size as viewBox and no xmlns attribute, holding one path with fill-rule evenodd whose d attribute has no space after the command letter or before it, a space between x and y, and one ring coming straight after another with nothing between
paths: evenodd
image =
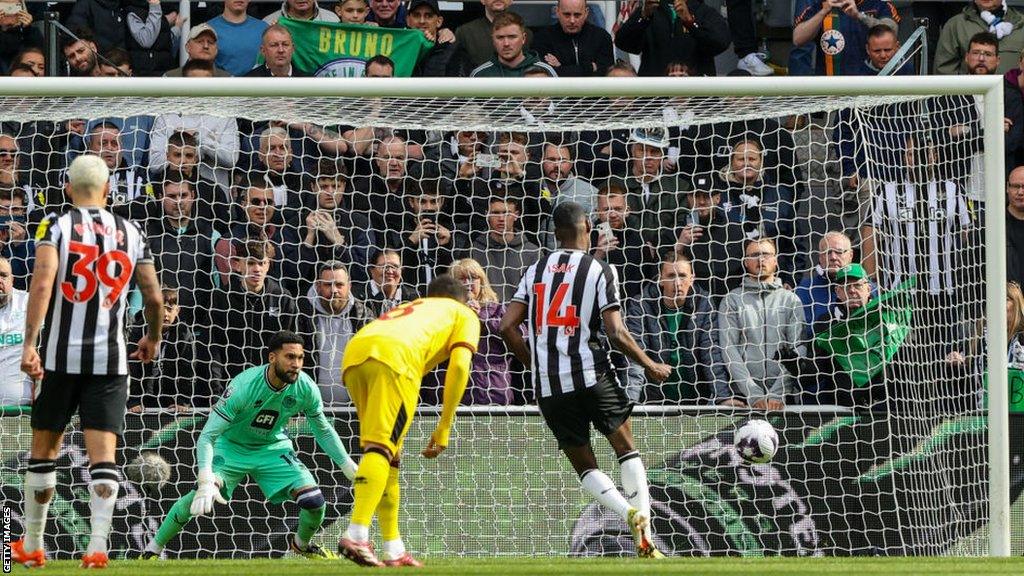
<instances>
[{"instance_id":1,"label":"player in striped number 14 shirt kicking the ball","mask_svg":"<svg viewBox=\"0 0 1024 576\"><path fill-rule=\"evenodd\" d=\"M651 380L664 381L671 368L648 358L626 330L615 272L588 254L591 227L583 207L559 204L552 220L559 249L526 269L502 318L502 337L530 367L541 414L584 489L626 521L638 556L662 558L650 535L647 472L630 429L633 404L608 361L602 325L607 340L641 364ZM529 345L519 331L523 321ZM597 467L591 424L618 457L625 497Z\"/></svg>"}]
</instances>

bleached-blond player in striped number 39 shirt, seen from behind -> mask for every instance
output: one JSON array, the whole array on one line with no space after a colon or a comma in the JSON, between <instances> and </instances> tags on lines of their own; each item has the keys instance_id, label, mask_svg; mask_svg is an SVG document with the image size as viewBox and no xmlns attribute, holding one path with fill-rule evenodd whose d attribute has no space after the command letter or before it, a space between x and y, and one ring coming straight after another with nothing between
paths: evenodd
<instances>
[{"instance_id":1,"label":"bleached-blond player in striped number 39 shirt, seen from behind","mask_svg":"<svg viewBox=\"0 0 1024 576\"><path fill-rule=\"evenodd\" d=\"M32 454L25 475L25 539L11 544L15 562L46 562L43 530L56 486L54 459L78 412L89 456L91 537L83 568L106 566L106 536L120 475L114 463L124 429L128 358L124 316L132 280L145 302L148 332L132 356L150 362L160 345L163 298L145 237L133 222L103 209L110 171L85 155L68 169L74 207L50 214L36 232L22 370L41 380L32 405ZM45 324L44 324L45 317ZM42 332L43 355L36 342Z\"/></svg>"}]
</instances>

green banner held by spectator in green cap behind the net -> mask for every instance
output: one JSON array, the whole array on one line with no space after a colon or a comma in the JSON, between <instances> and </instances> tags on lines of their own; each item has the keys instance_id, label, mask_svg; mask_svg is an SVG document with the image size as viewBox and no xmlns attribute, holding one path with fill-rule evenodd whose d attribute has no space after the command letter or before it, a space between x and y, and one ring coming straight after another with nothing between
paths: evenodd
<instances>
[{"instance_id":1,"label":"green banner held by spectator in green cap behind the net","mask_svg":"<svg viewBox=\"0 0 1024 576\"><path fill-rule=\"evenodd\" d=\"M913 312L909 294L913 285L911 278L815 336L817 344L850 374L854 385L870 383L906 339Z\"/></svg>"}]
</instances>

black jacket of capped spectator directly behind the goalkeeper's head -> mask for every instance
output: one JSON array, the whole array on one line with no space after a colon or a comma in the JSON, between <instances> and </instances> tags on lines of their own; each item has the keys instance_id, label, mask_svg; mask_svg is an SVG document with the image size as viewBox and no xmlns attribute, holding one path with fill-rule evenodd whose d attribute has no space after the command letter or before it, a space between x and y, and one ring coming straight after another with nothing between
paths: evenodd
<instances>
[{"instance_id":1,"label":"black jacket of capped spectator directly behind the goalkeeper's head","mask_svg":"<svg viewBox=\"0 0 1024 576\"><path fill-rule=\"evenodd\" d=\"M227 290L213 293L210 310L211 385L219 396L227 382L246 368L266 362L266 343L275 332L295 331L295 299L267 278L263 291L253 294L232 277Z\"/></svg>"}]
</instances>

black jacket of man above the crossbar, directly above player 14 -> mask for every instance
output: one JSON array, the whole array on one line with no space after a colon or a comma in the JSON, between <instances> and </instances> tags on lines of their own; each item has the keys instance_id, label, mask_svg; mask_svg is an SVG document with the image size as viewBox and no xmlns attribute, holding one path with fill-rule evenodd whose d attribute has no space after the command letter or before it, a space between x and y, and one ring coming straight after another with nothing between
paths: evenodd
<instances>
[{"instance_id":1,"label":"black jacket of man above the crossbar, directly above player 14","mask_svg":"<svg viewBox=\"0 0 1024 576\"><path fill-rule=\"evenodd\" d=\"M553 67L558 76L604 76L615 63L611 35L590 23L584 24L579 34L566 34L555 23L534 36L531 49L541 59L552 54L561 66Z\"/></svg>"}]
</instances>

